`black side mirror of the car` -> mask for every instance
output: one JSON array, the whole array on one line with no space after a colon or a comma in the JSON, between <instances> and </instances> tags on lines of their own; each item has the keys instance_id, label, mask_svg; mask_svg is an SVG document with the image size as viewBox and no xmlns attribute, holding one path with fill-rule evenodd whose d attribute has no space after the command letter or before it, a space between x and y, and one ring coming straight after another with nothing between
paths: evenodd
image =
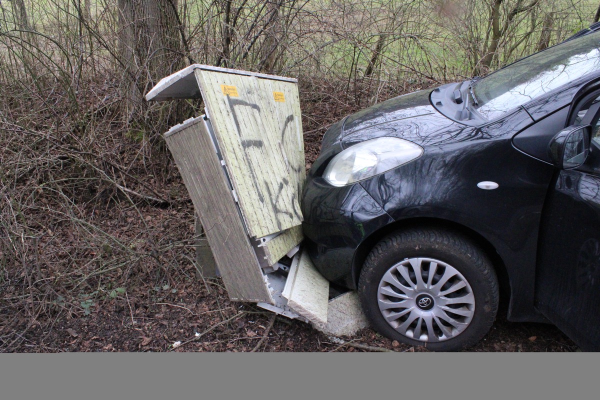
<instances>
[{"instance_id":1,"label":"black side mirror of the car","mask_svg":"<svg viewBox=\"0 0 600 400\"><path fill-rule=\"evenodd\" d=\"M590 154L592 127L583 125L565 128L556 134L548 144L548 157L555 167L573 169L586 162Z\"/></svg>"}]
</instances>

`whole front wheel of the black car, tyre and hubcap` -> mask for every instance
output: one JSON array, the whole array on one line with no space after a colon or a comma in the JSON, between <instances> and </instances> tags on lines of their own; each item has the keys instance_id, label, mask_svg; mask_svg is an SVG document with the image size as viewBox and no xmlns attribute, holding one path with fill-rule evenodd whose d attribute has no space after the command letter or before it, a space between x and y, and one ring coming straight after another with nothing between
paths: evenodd
<instances>
[{"instance_id":1,"label":"whole front wheel of the black car, tyre and hubcap","mask_svg":"<svg viewBox=\"0 0 600 400\"><path fill-rule=\"evenodd\" d=\"M430 228L400 231L377 243L362 267L358 292L377 332L433 351L475 345L490 330L499 302L487 255L467 237Z\"/></svg>"}]
</instances>

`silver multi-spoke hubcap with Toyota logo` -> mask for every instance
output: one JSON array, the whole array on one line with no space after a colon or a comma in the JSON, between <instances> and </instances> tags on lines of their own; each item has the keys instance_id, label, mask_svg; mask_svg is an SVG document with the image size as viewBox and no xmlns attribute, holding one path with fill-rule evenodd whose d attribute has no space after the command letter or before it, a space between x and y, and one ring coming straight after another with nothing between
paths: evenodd
<instances>
[{"instance_id":1,"label":"silver multi-spoke hubcap with Toyota logo","mask_svg":"<svg viewBox=\"0 0 600 400\"><path fill-rule=\"evenodd\" d=\"M457 269L434 258L407 258L383 275L377 304L401 335L441 342L459 335L475 312L469 282Z\"/></svg>"}]
</instances>

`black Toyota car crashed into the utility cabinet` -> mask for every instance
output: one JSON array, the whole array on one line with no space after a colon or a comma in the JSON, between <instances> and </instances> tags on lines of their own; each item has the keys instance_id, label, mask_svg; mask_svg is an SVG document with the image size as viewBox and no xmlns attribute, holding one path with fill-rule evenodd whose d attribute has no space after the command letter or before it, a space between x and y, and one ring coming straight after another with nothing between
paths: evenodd
<instances>
[{"instance_id":1,"label":"black Toyota car crashed into the utility cabinet","mask_svg":"<svg viewBox=\"0 0 600 400\"><path fill-rule=\"evenodd\" d=\"M600 32L332 125L306 246L385 336L476 344L508 319L600 350Z\"/></svg>"}]
</instances>

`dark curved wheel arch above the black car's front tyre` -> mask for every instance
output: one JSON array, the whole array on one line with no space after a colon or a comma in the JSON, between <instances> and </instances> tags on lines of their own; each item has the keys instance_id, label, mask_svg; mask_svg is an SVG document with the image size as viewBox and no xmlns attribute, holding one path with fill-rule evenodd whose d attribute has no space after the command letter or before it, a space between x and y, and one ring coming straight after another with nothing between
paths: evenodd
<instances>
[{"instance_id":1,"label":"dark curved wheel arch above the black car's front tyre","mask_svg":"<svg viewBox=\"0 0 600 400\"><path fill-rule=\"evenodd\" d=\"M398 231L402 230L410 230L417 227L434 228L448 231L449 233L460 234L467 237L467 239L471 240L475 245L481 248L481 250L485 252L485 254L493 263L500 287L500 303L508 303L509 297L512 296L511 285L508 278L508 270L506 269L504 260L496 251L496 248L494 248L489 240L472 228L459 224L458 222L441 218L416 217L401 219L386 225L385 227L366 237L356 249L354 258L352 260L352 282L354 287L358 287L358 278L368 254L377 245L377 243L380 242L380 240L389 234L397 233Z\"/></svg>"}]
</instances>

